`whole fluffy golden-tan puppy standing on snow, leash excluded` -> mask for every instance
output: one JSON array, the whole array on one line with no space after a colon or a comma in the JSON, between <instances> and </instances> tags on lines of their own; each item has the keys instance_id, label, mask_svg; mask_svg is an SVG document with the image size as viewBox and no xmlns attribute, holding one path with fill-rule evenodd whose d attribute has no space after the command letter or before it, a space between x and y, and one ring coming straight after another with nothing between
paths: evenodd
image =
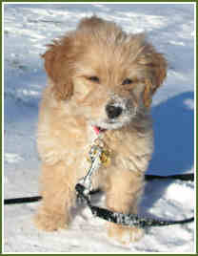
<instances>
[{"instance_id":1,"label":"whole fluffy golden-tan puppy standing on snow, leash excluded","mask_svg":"<svg viewBox=\"0 0 198 256\"><path fill-rule=\"evenodd\" d=\"M75 184L88 171L96 131L108 145L110 163L94 174L92 187L106 192L110 210L137 213L153 151L149 106L167 73L163 54L144 34L128 34L96 16L48 47L37 138L43 200L36 225L49 231L69 226ZM122 243L142 236L139 228L119 224L108 224L108 234Z\"/></svg>"}]
</instances>

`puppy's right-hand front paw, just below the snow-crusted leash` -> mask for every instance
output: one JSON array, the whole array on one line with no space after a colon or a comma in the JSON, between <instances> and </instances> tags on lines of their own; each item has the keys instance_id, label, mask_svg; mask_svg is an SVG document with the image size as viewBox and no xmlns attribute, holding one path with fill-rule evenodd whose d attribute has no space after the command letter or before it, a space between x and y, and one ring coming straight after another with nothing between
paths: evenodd
<instances>
[{"instance_id":1,"label":"puppy's right-hand front paw, just below the snow-crusted leash","mask_svg":"<svg viewBox=\"0 0 198 256\"><path fill-rule=\"evenodd\" d=\"M129 245L131 242L137 242L143 235L143 229L139 227L129 227L120 224L108 224L108 235L123 245Z\"/></svg>"}]
</instances>

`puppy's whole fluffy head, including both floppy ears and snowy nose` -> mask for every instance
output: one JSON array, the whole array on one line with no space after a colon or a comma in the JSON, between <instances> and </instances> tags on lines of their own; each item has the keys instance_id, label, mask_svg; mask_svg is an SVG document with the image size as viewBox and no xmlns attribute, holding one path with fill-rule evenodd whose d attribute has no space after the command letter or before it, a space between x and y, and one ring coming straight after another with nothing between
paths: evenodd
<instances>
[{"instance_id":1,"label":"puppy's whole fluffy head, including both floppy ears and snowy nose","mask_svg":"<svg viewBox=\"0 0 198 256\"><path fill-rule=\"evenodd\" d=\"M72 101L78 115L104 129L146 111L167 68L143 34L127 34L96 17L84 19L44 57L57 100Z\"/></svg>"}]
</instances>

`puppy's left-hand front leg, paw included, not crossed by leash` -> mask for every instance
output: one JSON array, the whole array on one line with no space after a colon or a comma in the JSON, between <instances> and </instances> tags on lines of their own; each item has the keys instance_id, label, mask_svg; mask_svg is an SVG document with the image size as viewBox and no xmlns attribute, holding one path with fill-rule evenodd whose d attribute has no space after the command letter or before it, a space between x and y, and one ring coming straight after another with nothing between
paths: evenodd
<instances>
[{"instance_id":1,"label":"puppy's left-hand front leg, paw included, not crossed by leash","mask_svg":"<svg viewBox=\"0 0 198 256\"><path fill-rule=\"evenodd\" d=\"M75 174L69 172L64 162L43 164L42 204L34 218L38 228L53 231L68 226L69 209L75 199L74 180Z\"/></svg>"}]
</instances>

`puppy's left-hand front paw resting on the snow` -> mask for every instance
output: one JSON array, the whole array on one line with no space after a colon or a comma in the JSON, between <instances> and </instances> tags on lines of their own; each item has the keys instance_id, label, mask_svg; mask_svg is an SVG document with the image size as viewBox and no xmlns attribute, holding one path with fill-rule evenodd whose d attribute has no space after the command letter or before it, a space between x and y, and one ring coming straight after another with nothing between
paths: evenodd
<instances>
[{"instance_id":1,"label":"puppy's left-hand front paw resting on the snow","mask_svg":"<svg viewBox=\"0 0 198 256\"><path fill-rule=\"evenodd\" d=\"M66 215L50 214L46 212L39 212L34 216L34 224L45 231L55 231L59 228L67 228L69 221Z\"/></svg>"}]
</instances>

